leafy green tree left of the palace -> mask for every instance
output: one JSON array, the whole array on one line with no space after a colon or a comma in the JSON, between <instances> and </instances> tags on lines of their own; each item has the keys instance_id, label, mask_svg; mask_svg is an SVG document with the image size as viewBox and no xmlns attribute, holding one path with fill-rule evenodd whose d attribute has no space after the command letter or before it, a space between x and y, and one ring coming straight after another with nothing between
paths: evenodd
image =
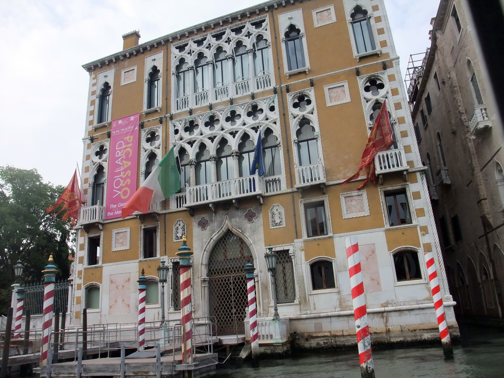
<instances>
[{"instance_id":1,"label":"leafy green tree left of the palace","mask_svg":"<svg viewBox=\"0 0 504 378\"><path fill-rule=\"evenodd\" d=\"M0 166L0 313L6 314L14 282L14 265L24 264L25 282L40 281L52 254L61 278L70 274L74 237L70 219L46 214L64 186L42 182L36 169Z\"/></svg>"}]
</instances>

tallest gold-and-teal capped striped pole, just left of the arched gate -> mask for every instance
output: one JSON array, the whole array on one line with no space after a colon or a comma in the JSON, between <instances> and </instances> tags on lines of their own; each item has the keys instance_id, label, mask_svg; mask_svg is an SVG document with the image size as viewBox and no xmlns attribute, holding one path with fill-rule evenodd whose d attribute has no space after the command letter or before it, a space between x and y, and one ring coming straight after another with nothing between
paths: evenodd
<instances>
[{"instance_id":1,"label":"tallest gold-and-teal capped striped pole, just left of the arched gate","mask_svg":"<svg viewBox=\"0 0 504 378\"><path fill-rule=\"evenodd\" d=\"M187 238L182 236L182 246L176 253L180 261L180 324L182 326L182 363L193 363L192 304L191 304L191 257Z\"/></svg>"}]
</instances>

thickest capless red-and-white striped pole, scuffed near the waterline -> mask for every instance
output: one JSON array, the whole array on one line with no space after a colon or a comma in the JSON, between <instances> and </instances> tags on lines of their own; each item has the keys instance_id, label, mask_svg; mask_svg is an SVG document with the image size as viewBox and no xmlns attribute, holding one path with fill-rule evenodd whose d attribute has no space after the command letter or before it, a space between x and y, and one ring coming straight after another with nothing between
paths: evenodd
<instances>
[{"instance_id":1,"label":"thickest capless red-and-white striped pole, scuffed near the waterline","mask_svg":"<svg viewBox=\"0 0 504 378\"><path fill-rule=\"evenodd\" d=\"M364 297L364 284L362 283L362 270L360 267L359 244L356 236L345 237L348 273L352 287L353 316L355 330L357 331L357 346L359 348L360 376L374 378L373 357L371 355L371 339L367 324L366 300Z\"/></svg>"}]
</instances>

